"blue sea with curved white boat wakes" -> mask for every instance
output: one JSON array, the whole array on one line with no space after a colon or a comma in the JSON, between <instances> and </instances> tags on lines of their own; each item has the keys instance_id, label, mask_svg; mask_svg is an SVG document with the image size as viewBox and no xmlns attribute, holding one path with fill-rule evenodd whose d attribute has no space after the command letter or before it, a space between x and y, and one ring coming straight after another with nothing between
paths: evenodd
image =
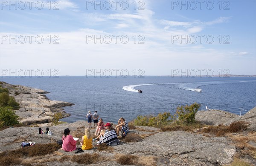
<instances>
[{"instance_id":1,"label":"blue sea with curved white boat wakes","mask_svg":"<svg viewBox=\"0 0 256 166\"><path fill-rule=\"evenodd\" d=\"M176 111L177 106L200 103L200 110L221 109L240 114L256 106L256 77L1 77L1 81L50 92L50 100L74 103L64 107L71 114L62 121L86 120L88 110L98 111L103 120L130 121L138 115ZM195 92L199 87L202 92ZM138 89L143 93L136 92ZM242 110L242 114L246 111Z\"/></svg>"}]
</instances>

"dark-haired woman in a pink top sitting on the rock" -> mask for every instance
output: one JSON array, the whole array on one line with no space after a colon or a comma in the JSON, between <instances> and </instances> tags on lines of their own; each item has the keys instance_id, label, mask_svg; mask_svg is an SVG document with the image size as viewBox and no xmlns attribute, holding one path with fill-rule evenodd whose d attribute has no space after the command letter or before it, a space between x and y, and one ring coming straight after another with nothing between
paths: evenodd
<instances>
[{"instance_id":1,"label":"dark-haired woman in a pink top sitting on the rock","mask_svg":"<svg viewBox=\"0 0 256 166\"><path fill-rule=\"evenodd\" d=\"M62 137L62 149L66 152L72 152L76 150L76 140L70 134L70 129L64 129L64 135Z\"/></svg>"}]
</instances>

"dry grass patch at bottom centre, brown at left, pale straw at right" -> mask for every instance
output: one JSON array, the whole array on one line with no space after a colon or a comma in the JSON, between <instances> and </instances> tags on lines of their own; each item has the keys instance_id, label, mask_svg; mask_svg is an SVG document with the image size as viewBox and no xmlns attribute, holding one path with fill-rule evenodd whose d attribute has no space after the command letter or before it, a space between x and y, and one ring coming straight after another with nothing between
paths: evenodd
<instances>
[{"instance_id":1,"label":"dry grass patch at bottom centre, brown at left, pale straw at right","mask_svg":"<svg viewBox=\"0 0 256 166\"><path fill-rule=\"evenodd\" d=\"M137 166L156 166L157 157L152 156L135 156L135 155L116 155L116 162L121 165Z\"/></svg>"}]
</instances>

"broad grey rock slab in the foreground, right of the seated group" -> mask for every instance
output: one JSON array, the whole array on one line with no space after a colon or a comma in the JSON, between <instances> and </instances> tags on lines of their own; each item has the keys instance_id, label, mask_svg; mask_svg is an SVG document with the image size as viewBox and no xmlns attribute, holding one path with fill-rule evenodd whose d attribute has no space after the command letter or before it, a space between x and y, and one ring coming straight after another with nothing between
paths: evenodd
<instances>
[{"instance_id":1,"label":"broad grey rock slab in the foreground, right of the seated group","mask_svg":"<svg viewBox=\"0 0 256 166\"><path fill-rule=\"evenodd\" d=\"M168 157L170 163L177 165L223 165L232 162L236 153L236 147L230 145L225 137L204 137L183 131L157 133L142 142L113 148L127 154Z\"/></svg>"}]
</instances>

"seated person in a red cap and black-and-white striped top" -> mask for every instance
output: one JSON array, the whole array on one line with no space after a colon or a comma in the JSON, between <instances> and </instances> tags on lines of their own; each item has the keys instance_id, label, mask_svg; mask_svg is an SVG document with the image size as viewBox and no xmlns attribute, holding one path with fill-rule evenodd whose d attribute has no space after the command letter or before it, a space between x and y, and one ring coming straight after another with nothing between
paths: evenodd
<instances>
[{"instance_id":1,"label":"seated person in a red cap and black-and-white striped top","mask_svg":"<svg viewBox=\"0 0 256 166\"><path fill-rule=\"evenodd\" d=\"M101 141L99 141L99 144L106 143L107 146L116 146L119 144L119 140L116 135L116 131L113 129L110 123L105 124L106 131L103 135L103 138Z\"/></svg>"}]
</instances>

